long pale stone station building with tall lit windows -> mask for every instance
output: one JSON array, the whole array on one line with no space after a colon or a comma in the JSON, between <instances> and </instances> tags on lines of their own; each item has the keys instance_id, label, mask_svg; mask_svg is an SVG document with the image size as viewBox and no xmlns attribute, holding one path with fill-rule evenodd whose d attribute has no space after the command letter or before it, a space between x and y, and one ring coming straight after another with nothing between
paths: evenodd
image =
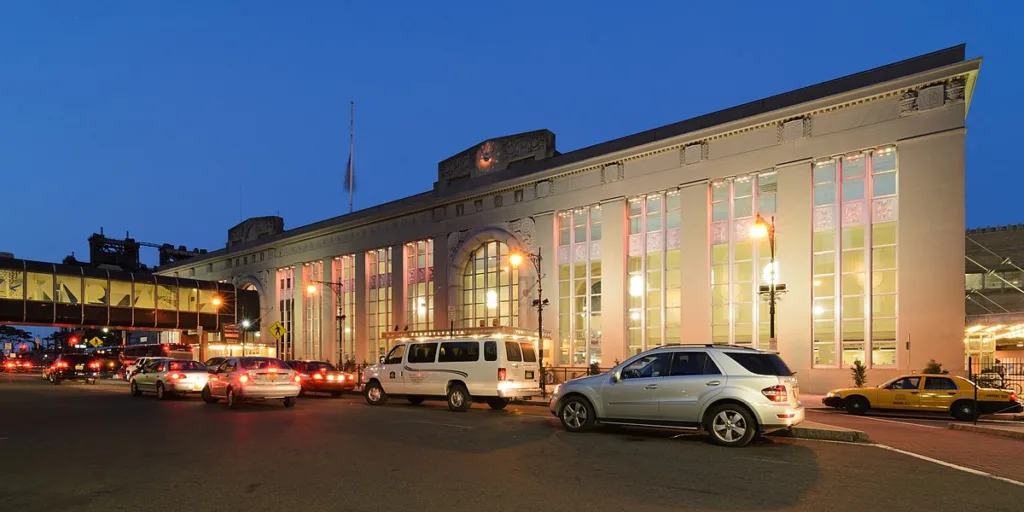
<instances>
[{"instance_id":1,"label":"long pale stone station building with tall lit windows","mask_svg":"<svg viewBox=\"0 0 1024 512\"><path fill-rule=\"evenodd\" d=\"M854 360L876 383L955 369L980 66L956 46L568 153L548 130L484 139L431 190L288 230L249 219L158 273L256 290L259 350L282 357L374 361L396 329L536 330L543 287L555 369L665 343L775 348L805 392L849 384Z\"/></svg>"}]
</instances>

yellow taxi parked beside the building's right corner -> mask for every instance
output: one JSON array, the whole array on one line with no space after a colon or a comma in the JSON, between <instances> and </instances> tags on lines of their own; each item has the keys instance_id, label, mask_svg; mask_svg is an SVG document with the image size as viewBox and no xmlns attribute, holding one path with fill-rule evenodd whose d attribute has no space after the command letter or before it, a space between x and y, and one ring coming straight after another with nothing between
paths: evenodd
<instances>
[{"instance_id":1,"label":"yellow taxi parked beside the building's right corner","mask_svg":"<svg viewBox=\"0 0 1024 512\"><path fill-rule=\"evenodd\" d=\"M974 383L952 375L904 375L878 387L834 389L821 399L825 407L846 409L862 415L871 409L883 411L944 412L962 421L979 414L1020 413L1017 393L1002 389L978 388L975 403Z\"/></svg>"}]
</instances>

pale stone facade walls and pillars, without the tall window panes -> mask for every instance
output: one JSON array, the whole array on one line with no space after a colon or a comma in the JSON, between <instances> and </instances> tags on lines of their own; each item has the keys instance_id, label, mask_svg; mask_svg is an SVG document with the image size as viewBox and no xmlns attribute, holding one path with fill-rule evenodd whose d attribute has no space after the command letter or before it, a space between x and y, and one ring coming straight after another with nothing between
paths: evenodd
<instances>
[{"instance_id":1,"label":"pale stone facade walls and pillars, without the tall window panes","mask_svg":"<svg viewBox=\"0 0 1024 512\"><path fill-rule=\"evenodd\" d=\"M920 371L930 358L959 360L965 118L980 67L980 59L965 60L963 53L963 47L943 50L564 155L554 150L554 134L546 130L488 139L442 162L432 191L232 246L161 268L160 273L195 271L197 279L253 284L264 298L265 330L280 314L274 307L278 269L294 268L295 279L301 280L304 263L323 261L324 268L330 268L333 258L354 254L355 353L359 360L373 360L366 342L367 251L393 248L391 275L397 284L392 288L392 311L394 323L401 326L403 248L409 242L432 240L434 327L444 329L459 319L461 271L468 254L497 240L513 250L544 255L542 285L545 298L551 299L544 325L557 333L558 212L599 205L602 236L588 250L600 254L603 266L600 366L606 368L628 356L629 201L665 190L679 195L682 220L668 243L681 251L683 262L682 323L679 339L670 341L708 343L709 248L714 236L710 184L773 170L777 260L788 288L778 306L778 349L806 392L823 391L848 384L849 370L812 364L812 170L822 158L888 145L898 151L899 204L876 205L882 210L874 214L899 216L897 362L872 368L870 379L881 382ZM527 158L508 166L512 153ZM537 295L537 275L527 266L519 275L519 325L536 329L537 311L529 303ZM293 285L293 333L303 332L303 294L298 292L303 289L303 283ZM329 328L334 325L329 305L334 298L324 299L328 305L323 308L323 336L336 347L335 330ZM547 354L552 348L546 347Z\"/></svg>"}]
</instances>

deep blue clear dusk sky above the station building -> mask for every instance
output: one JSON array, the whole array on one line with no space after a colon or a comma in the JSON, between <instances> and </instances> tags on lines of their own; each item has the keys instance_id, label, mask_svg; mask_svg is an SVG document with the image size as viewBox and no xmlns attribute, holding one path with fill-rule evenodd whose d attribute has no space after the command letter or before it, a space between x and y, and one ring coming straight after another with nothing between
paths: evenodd
<instances>
[{"instance_id":1,"label":"deep blue clear dusk sky above the station building","mask_svg":"<svg viewBox=\"0 0 1024 512\"><path fill-rule=\"evenodd\" d=\"M3 2L0 251L85 259L100 226L213 250L242 217L343 213L349 100L359 209L488 137L565 152L962 42L985 57L968 225L1024 221L1020 2L482 3Z\"/></svg>"}]
</instances>

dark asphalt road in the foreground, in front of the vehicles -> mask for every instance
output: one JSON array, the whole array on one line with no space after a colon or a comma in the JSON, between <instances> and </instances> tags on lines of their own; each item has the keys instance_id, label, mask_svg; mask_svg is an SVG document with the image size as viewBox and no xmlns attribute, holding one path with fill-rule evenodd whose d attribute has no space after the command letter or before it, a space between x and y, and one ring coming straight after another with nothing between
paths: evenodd
<instances>
[{"instance_id":1,"label":"dark asphalt road in the foreground, in front of the vehicles","mask_svg":"<svg viewBox=\"0 0 1024 512\"><path fill-rule=\"evenodd\" d=\"M529 407L527 407L529 408ZM0 510L1019 512L1024 487L863 445L561 431L515 408L229 411L0 380ZM415 508L414 508L415 507Z\"/></svg>"}]
</instances>

